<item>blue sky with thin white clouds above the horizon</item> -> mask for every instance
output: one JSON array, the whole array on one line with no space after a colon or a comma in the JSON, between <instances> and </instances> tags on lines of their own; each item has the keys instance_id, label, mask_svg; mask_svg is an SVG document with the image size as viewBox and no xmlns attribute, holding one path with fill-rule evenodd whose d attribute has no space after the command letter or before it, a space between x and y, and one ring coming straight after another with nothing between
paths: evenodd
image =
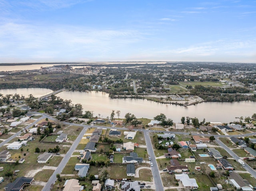
<instances>
[{"instance_id":1,"label":"blue sky with thin white clouds above the horizon","mask_svg":"<svg viewBox=\"0 0 256 191\"><path fill-rule=\"evenodd\" d=\"M0 0L0 63L256 62L256 0Z\"/></svg>"}]
</instances>

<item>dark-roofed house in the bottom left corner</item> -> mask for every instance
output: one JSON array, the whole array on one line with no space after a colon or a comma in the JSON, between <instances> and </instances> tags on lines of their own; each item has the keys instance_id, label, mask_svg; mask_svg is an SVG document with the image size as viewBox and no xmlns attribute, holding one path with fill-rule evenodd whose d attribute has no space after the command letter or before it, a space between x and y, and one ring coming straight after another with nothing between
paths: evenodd
<instances>
[{"instance_id":1,"label":"dark-roofed house in the bottom left corner","mask_svg":"<svg viewBox=\"0 0 256 191\"><path fill-rule=\"evenodd\" d=\"M5 187L5 191L21 191L25 185L30 185L34 181L33 177L18 177L12 183L8 183Z\"/></svg>"}]
</instances>

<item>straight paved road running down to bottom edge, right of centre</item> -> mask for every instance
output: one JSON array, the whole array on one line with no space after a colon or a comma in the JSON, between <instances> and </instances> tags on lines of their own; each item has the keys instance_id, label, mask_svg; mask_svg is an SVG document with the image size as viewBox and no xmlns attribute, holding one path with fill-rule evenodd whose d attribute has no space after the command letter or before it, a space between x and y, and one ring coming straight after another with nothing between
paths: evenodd
<instances>
[{"instance_id":1,"label":"straight paved road running down to bottom edge, right of centre","mask_svg":"<svg viewBox=\"0 0 256 191\"><path fill-rule=\"evenodd\" d=\"M153 166L151 166L151 171L152 171L152 176L153 176L154 183L155 183L155 188L157 189L157 191L164 191L162 179L161 179L161 176L159 173L159 169L158 169L158 165L156 162L153 146L152 146L152 143L150 140L149 132L150 132L149 130L143 131L144 139L146 141L146 146L147 146L147 150L148 150L148 155L151 158L150 162L153 163Z\"/></svg>"}]
</instances>

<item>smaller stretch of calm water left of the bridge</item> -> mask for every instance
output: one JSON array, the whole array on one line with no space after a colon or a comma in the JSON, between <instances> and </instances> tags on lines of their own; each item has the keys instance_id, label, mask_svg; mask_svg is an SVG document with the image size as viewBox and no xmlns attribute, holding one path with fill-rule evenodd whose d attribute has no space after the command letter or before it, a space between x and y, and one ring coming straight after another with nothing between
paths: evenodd
<instances>
[{"instance_id":1,"label":"smaller stretch of calm water left of the bridge","mask_svg":"<svg viewBox=\"0 0 256 191\"><path fill-rule=\"evenodd\" d=\"M19 94L24 95L25 97L28 97L28 95L32 94L34 97L39 98L43 95L47 95L49 93L52 93L53 91L51 89L47 88L17 88L17 89L0 89L0 93L2 95L8 95L8 94Z\"/></svg>"}]
</instances>

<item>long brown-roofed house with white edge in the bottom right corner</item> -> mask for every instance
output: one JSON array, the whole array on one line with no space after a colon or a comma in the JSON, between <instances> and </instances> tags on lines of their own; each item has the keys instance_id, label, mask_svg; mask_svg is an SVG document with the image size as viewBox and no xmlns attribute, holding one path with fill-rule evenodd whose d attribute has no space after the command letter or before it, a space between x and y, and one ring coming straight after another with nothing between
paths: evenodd
<instances>
[{"instance_id":1,"label":"long brown-roofed house with white edge in the bottom right corner","mask_svg":"<svg viewBox=\"0 0 256 191\"><path fill-rule=\"evenodd\" d=\"M252 185L246 180L243 179L238 173L230 172L228 176L231 184L236 188L236 190L242 191L253 191Z\"/></svg>"}]
</instances>

